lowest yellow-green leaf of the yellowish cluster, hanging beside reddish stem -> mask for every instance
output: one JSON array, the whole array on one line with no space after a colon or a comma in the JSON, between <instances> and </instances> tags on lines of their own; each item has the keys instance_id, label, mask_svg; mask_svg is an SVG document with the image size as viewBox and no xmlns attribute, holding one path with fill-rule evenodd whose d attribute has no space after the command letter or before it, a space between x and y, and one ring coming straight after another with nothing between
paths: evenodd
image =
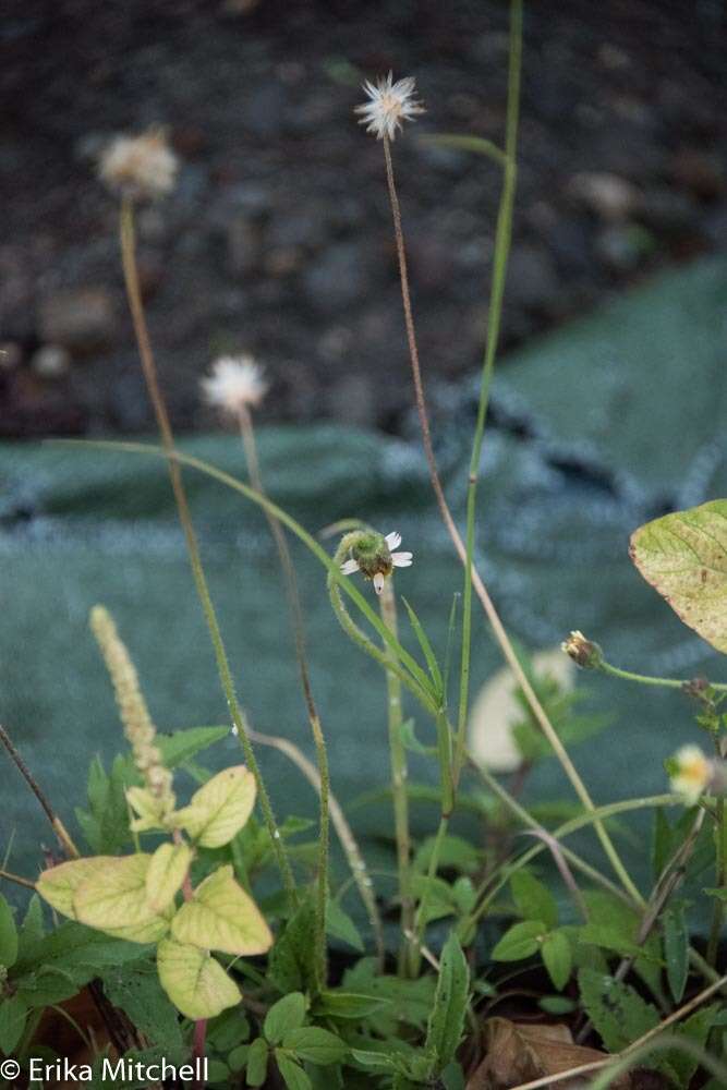
<instances>
[{"instance_id":1,"label":"lowest yellow-green leaf of the yellowish cluster, hanging beside reddish stem","mask_svg":"<svg viewBox=\"0 0 727 1090\"><path fill-rule=\"evenodd\" d=\"M157 949L157 969L161 986L177 1009L195 1021L215 1018L242 997L219 961L207 950L187 943L162 938Z\"/></svg>"}]
</instances>

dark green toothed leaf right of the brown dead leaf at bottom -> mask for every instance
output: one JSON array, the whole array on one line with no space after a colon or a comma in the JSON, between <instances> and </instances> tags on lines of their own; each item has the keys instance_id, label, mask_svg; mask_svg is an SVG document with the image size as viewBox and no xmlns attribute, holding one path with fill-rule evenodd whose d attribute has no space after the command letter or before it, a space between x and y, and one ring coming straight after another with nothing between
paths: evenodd
<instances>
[{"instance_id":1,"label":"dark green toothed leaf right of the brown dead leaf at bottom","mask_svg":"<svg viewBox=\"0 0 727 1090\"><path fill-rule=\"evenodd\" d=\"M609 1052L620 1052L658 1026L656 1007L642 1000L629 984L592 969L581 969L578 983L583 1009Z\"/></svg>"}]
</instances>

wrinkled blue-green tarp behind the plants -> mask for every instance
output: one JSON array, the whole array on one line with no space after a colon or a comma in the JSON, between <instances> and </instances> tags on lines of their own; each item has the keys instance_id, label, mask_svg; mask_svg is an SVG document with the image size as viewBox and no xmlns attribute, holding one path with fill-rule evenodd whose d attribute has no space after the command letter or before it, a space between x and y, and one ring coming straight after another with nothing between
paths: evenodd
<instances>
[{"instance_id":1,"label":"wrinkled blue-green tarp behind the plants","mask_svg":"<svg viewBox=\"0 0 727 1090\"><path fill-rule=\"evenodd\" d=\"M698 263L634 290L602 313L510 359L497 377L484 446L478 564L509 629L530 647L573 628L611 662L644 673L727 677L724 663L642 582L628 555L640 523L727 495L727 263ZM409 376L402 375L401 382ZM437 412L447 493L463 520L475 383ZM180 447L244 477L239 439ZM397 590L444 653L461 573L432 499L416 443L332 425L259 435L267 489L307 529L363 518L399 530L412 568ZM185 471L213 596L252 724L312 752L278 560L260 513L230 489ZM378 667L341 633L325 572L292 543L313 688L344 803L387 777L386 703ZM121 748L112 693L88 611L112 611L160 729L226 722L202 613L163 462L57 445L0 448L0 717L62 816L85 801L90 755ZM371 588L369 593L373 598ZM473 690L500 665L476 616ZM407 642L414 647L402 621ZM615 726L573 751L599 802L661 791L663 760L700 741L679 693L580 677ZM417 734L431 724L412 706ZM233 738L214 751L238 760ZM311 788L283 758L259 751L280 816L314 813ZM427 770L412 758L413 778ZM51 837L16 771L2 759L1 844L9 865L35 873ZM431 777L434 772L429 773ZM529 797L570 797L554 760ZM387 806L352 815L390 836ZM420 829L435 812L416 811ZM594 849L595 851L595 849ZM29 852L29 853L28 853Z\"/></svg>"}]
</instances>

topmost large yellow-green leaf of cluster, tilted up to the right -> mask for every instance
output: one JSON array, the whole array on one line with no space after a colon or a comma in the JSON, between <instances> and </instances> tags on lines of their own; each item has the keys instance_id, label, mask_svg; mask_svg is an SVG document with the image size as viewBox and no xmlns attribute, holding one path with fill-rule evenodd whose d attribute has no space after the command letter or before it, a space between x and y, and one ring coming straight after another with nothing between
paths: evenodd
<instances>
[{"instance_id":1,"label":"topmost large yellow-green leaf of cluster, tilted up to the right","mask_svg":"<svg viewBox=\"0 0 727 1090\"><path fill-rule=\"evenodd\" d=\"M255 777L239 764L213 776L178 810L174 822L204 848L221 848L240 832L255 804Z\"/></svg>"}]
</instances>

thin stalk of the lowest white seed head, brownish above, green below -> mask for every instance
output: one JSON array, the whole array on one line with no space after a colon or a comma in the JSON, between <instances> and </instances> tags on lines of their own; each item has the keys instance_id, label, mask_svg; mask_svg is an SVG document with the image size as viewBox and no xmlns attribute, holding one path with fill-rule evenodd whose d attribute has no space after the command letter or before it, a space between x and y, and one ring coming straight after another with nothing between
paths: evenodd
<instances>
[{"instance_id":1,"label":"thin stalk of the lowest white seed head, brownish above, green below","mask_svg":"<svg viewBox=\"0 0 727 1090\"><path fill-rule=\"evenodd\" d=\"M240 431L242 434L242 441L245 448L245 457L247 459L247 471L250 473L250 480L253 487L260 494L265 496L265 488L263 487L263 477L260 475L259 460L257 458L257 444L255 441L255 429L253 427L253 419L246 405L240 405L239 410L240 420ZM293 567L293 561L290 556L290 549L288 548L288 542L286 541L286 535L283 533L282 526L279 521L270 513L269 510L265 509L265 518L267 524L270 528L270 533L272 540L275 541L276 548L278 550L278 557L280 559L280 567L282 568L282 574L286 583L286 595L288 598L288 605L290 608L291 622L293 627L293 641L295 645L295 658L298 661L298 670L301 678L301 687L303 689L303 699L305 701L305 708L308 716L308 723L311 725L311 731L313 734L313 741L316 749L316 759L318 762L318 775L319 775L319 786L318 786L318 799L320 802L320 824L318 832L318 897L315 908L315 969L316 979L318 986L320 989L326 985L327 977L327 965L326 965L326 912L328 905L328 852L329 852L329 808L330 808L330 776L328 772L328 753L326 750L326 739L324 737L323 727L320 725L320 717L313 699L313 689L311 687L311 675L307 666L307 656L305 653L305 629L303 626L303 610L301 608L301 598L298 593L298 580L295 579L295 569Z\"/></svg>"}]
</instances>

